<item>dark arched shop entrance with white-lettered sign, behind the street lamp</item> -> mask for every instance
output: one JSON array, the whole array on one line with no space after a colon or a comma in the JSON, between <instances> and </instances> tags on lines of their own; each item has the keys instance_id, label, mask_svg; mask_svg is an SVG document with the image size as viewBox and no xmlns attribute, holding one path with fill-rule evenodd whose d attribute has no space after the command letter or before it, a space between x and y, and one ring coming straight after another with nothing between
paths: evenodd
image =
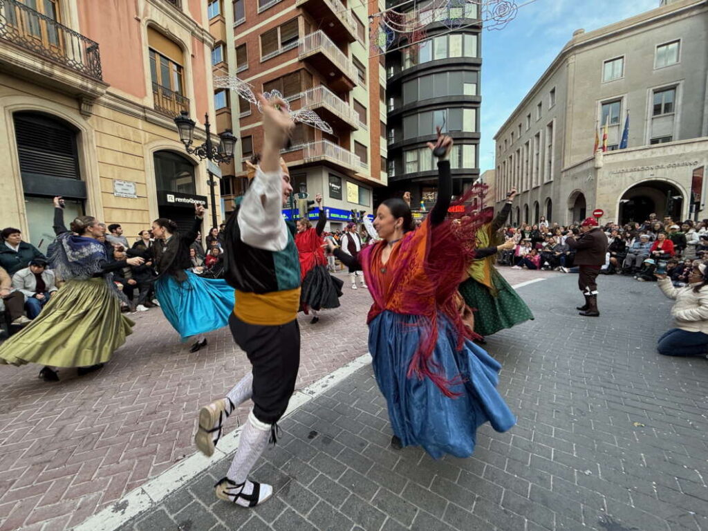
<instances>
[{"instance_id":1,"label":"dark arched shop entrance with white-lettered sign, behind the street lamp","mask_svg":"<svg viewBox=\"0 0 708 531\"><path fill-rule=\"evenodd\" d=\"M194 163L166 150L155 152L153 159L159 215L176 222L180 232L187 231L194 221L195 202L207 203L205 196L195 195Z\"/></svg>"}]
</instances>

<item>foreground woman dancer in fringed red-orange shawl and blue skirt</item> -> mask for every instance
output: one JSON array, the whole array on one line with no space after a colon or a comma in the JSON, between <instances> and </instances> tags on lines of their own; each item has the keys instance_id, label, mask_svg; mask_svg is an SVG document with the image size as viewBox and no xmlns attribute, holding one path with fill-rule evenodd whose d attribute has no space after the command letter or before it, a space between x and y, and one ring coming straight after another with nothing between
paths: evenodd
<instances>
[{"instance_id":1,"label":"foreground woman dancer in fringed red-orange shawl and blue skirt","mask_svg":"<svg viewBox=\"0 0 708 531\"><path fill-rule=\"evenodd\" d=\"M388 199L374 220L383 241L363 249L360 264L341 249L334 253L362 266L374 299L369 349L387 400L392 445L420 445L436 459L469 457L476 428L490 421L506 431L515 418L496 390L501 365L471 341L456 311L455 291L471 253L459 225L446 219L452 139L438 130L438 142L428 147L447 151L438 161L438 202L421 227L413 228L404 200Z\"/></svg>"}]
</instances>

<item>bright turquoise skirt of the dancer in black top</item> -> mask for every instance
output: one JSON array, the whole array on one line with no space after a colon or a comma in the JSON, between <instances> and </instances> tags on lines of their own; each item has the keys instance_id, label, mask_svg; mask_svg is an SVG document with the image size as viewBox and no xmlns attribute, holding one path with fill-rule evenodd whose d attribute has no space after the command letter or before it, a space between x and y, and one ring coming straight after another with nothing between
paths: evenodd
<instances>
[{"instance_id":1,"label":"bright turquoise skirt of the dancer in black top","mask_svg":"<svg viewBox=\"0 0 708 531\"><path fill-rule=\"evenodd\" d=\"M234 288L226 280L202 278L191 271L185 273L184 282L171 276L155 282L155 295L162 312L182 341L227 326L234 311Z\"/></svg>"}]
</instances>

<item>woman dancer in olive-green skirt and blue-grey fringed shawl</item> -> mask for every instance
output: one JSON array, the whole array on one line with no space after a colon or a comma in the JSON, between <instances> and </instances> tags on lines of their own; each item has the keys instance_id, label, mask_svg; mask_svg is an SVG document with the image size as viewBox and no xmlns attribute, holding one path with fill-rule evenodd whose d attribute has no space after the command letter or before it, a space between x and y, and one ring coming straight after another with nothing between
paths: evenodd
<instances>
[{"instance_id":1,"label":"woman dancer in olive-green skirt and blue-grey fringed shawl","mask_svg":"<svg viewBox=\"0 0 708 531\"><path fill-rule=\"evenodd\" d=\"M0 346L0 363L45 365L40 378L59 379L52 367L79 367L79 374L99 369L125 343L134 323L120 313L120 292L113 271L141 265L143 258L108 263L98 241L103 227L98 219L79 216L64 226L64 201L54 198L56 241L49 260L65 281L39 316Z\"/></svg>"}]
</instances>

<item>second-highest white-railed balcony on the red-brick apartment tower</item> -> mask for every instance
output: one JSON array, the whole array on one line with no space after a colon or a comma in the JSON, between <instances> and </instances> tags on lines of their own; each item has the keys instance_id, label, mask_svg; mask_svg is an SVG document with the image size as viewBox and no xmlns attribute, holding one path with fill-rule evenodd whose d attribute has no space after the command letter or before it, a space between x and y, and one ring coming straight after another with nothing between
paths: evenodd
<instances>
[{"instance_id":1,"label":"second-highest white-railed balcony on the red-brick apartment tower","mask_svg":"<svg viewBox=\"0 0 708 531\"><path fill-rule=\"evenodd\" d=\"M305 35L298 43L298 58L307 59L329 84L340 91L350 91L357 84L358 74L351 59L322 30Z\"/></svg>"}]
</instances>

